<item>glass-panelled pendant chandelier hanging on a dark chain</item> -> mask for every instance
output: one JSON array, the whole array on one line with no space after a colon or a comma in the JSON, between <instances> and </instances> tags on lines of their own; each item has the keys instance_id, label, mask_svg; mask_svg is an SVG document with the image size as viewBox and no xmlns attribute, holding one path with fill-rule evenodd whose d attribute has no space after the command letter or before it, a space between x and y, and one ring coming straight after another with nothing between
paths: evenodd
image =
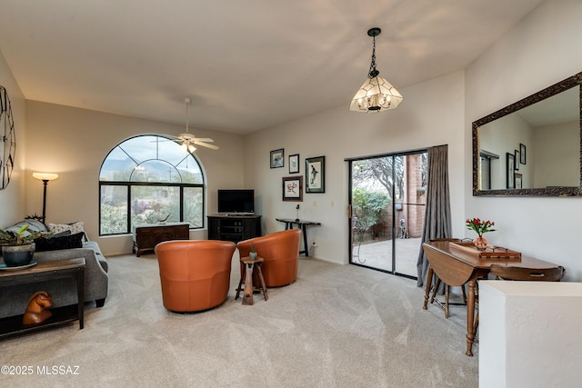
<instances>
[{"instance_id":1,"label":"glass-panelled pendant chandelier hanging on a dark chain","mask_svg":"<svg viewBox=\"0 0 582 388\"><path fill-rule=\"evenodd\" d=\"M382 30L377 27L367 30L367 35L372 36L373 39L372 63L366 81L357 90L349 105L350 111L366 114L383 112L396 109L396 106L402 102L402 95L386 81L386 78L378 76L380 72L376 70L376 36L381 32Z\"/></svg>"}]
</instances>

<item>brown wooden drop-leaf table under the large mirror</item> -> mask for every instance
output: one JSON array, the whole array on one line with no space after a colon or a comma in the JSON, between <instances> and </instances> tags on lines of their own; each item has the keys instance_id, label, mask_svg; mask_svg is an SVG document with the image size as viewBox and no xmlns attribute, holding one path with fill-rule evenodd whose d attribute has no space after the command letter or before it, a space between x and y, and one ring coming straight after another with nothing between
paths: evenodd
<instances>
[{"instance_id":1,"label":"brown wooden drop-leaf table under the large mirror","mask_svg":"<svg viewBox=\"0 0 582 388\"><path fill-rule=\"evenodd\" d=\"M448 241L429 241L422 244L428 260L428 273L425 282L425 303L422 308L426 310L426 303L432 285L433 274L446 284L451 286L468 285L467 292L467 355L473 355L473 342L477 331L475 319L475 299L477 293L477 279L489 274L492 264L505 265L507 267L520 267L531 269L556 268L558 265L538 260L533 257L521 256L519 261L502 258L479 258L477 255L465 254L452 249Z\"/></svg>"}]
</instances>

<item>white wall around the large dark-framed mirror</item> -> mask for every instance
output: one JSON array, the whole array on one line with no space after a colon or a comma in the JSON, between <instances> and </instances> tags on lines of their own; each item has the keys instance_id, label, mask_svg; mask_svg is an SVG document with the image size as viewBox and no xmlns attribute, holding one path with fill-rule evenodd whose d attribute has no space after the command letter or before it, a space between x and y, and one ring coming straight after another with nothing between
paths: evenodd
<instances>
[{"instance_id":1,"label":"white wall around the large dark-framed mirror","mask_svg":"<svg viewBox=\"0 0 582 388\"><path fill-rule=\"evenodd\" d=\"M465 132L473 121L581 72L581 18L582 2L548 0L468 66ZM566 280L581 281L582 198L474 197L471 154L466 138L465 215L495 221L497 232L487 234L492 244L562 264Z\"/></svg>"}]
</instances>

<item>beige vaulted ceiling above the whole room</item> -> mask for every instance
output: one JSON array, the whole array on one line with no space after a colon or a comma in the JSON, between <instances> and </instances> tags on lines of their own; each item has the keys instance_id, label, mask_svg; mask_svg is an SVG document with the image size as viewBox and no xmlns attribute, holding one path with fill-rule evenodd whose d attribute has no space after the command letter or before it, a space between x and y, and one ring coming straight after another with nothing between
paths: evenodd
<instances>
[{"instance_id":1,"label":"beige vaulted ceiling above the whole room","mask_svg":"<svg viewBox=\"0 0 582 388\"><path fill-rule=\"evenodd\" d=\"M466 67L541 2L0 0L0 51L26 99L183 124L190 97L191 127L246 134L347 109L370 27L401 90Z\"/></svg>"}]
</instances>

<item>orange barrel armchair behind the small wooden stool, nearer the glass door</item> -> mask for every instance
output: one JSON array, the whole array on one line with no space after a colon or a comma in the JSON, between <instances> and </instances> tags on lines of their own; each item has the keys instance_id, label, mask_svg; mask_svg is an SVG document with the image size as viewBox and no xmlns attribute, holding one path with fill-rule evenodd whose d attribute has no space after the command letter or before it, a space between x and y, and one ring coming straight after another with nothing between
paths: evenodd
<instances>
[{"instance_id":1,"label":"orange barrel armchair behind the small wooden stool, nearer the glass door","mask_svg":"<svg viewBox=\"0 0 582 388\"><path fill-rule=\"evenodd\" d=\"M240 257L246 257L255 245L256 254L265 259L261 269L266 286L279 287L297 279L300 243L301 230L290 229L241 241L237 247Z\"/></svg>"}]
</instances>

